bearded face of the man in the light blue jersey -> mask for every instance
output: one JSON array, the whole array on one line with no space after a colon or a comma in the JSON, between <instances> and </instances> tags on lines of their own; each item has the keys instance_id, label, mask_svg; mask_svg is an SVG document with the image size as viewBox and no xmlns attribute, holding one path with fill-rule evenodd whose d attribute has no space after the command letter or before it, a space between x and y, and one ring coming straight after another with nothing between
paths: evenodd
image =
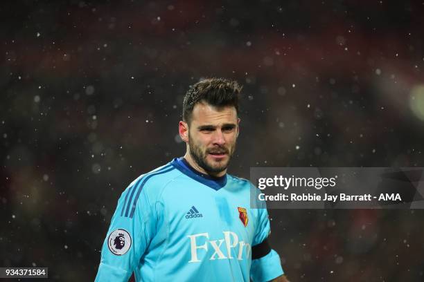
<instances>
[{"instance_id":1,"label":"bearded face of the man in the light blue jersey","mask_svg":"<svg viewBox=\"0 0 424 282\"><path fill-rule=\"evenodd\" d=\"M227 169L236 149L239 121L233 106L195 104L188 125L188 150L207 173L217 174Z\"/></svg>"}]
</instances>

